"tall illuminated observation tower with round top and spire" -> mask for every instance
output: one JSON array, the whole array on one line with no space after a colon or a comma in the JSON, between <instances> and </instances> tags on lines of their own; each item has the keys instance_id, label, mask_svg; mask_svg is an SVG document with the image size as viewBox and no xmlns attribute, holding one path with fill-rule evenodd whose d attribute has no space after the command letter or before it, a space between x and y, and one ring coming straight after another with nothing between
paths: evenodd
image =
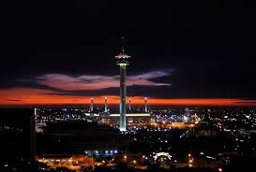
<instances>
[{"instance_id":1,"label":"tall illuminated observation tower with round top and spire","mask_svg":"<svg viewBox=\"0 0 256 172\"><path fill-rule=\"evenodd\" d=\"M125 132L127 130L126 120L126 97L127 97L127 66L129 65L130 56L125 53L124 44L122 45L122 51L115 56L116 64L120 66L120 131Z\"/></svg>"}]
</instances>

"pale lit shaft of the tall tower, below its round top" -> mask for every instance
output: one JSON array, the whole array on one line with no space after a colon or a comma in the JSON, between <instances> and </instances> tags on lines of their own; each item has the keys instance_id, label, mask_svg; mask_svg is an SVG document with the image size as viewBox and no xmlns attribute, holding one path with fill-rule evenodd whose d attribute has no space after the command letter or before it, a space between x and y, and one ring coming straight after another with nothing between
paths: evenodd
<instances>
[{"instance_id":1,"label":"pale lit shaft of the tall tower, below its round top","mask_svg":"<svg viewBox=\"0 0 256 172\"><path fill-rule=\"evenodd\" d=\"M120 64L120 131L127 130L126 98L127 98L127 65Z\"/></svg>"}]
</instances>

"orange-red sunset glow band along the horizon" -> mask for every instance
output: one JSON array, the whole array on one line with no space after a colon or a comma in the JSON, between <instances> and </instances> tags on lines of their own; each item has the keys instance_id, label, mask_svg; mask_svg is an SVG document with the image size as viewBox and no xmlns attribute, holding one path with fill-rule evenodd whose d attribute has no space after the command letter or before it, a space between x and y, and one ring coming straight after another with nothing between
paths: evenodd
<instances>
[{"instance_id":1,"label":"orange-red sunset glow band along the horizon","mask_svg":"<svg viewBox=\"0 0 256 172\"><path fill-rule=\"evenodd\" d=\"M32 106L32 105L81 105L89 104L91 96L77 95L54 95L53 91L16 88L0 90L1 106ZM94 96L95 104L104 104L104 97L108 97L109 104L119 104L119 96L117 95L100 95ZM143 104L142 96L131 97L133 104ZM148 97L150 105L207 105L207 106L256 106L256 101L233 99L233 98L179 98L179 99L163 99Z\"/></svg>"}]
</instances>

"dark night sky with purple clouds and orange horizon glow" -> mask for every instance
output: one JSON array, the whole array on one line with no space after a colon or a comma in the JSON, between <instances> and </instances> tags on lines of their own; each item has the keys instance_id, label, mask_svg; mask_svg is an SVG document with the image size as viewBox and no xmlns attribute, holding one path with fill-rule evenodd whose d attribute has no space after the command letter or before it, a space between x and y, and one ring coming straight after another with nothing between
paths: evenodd
<instances>
[{"instance_id":1,"label":"dark night sky with purple clouds and orange horizon glow","mask_svg":"<svg viewBox=\"0 0 256 172\"><path fill-rule=\"evenodd\" d=\"M134 103L256 105L255 7L168 2L1 3L0 105L118 103L122 36Z\"/></svg>"}]
</instances>

